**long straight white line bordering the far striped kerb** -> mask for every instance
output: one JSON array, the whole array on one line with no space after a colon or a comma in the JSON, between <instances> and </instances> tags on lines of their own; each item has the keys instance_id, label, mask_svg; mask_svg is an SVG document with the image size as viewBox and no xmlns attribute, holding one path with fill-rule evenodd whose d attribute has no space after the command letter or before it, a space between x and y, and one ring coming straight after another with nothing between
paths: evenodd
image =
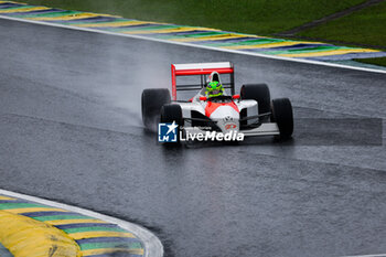
<instances>
[{"instance_id":1,"label":"long straight white line bordering the far striped kerb","mask_svg":"<svg viewBox=\"0 0 386 257\"><path fill-rule=\"evenodd\" d=\"M78 26L72 26L72 25L49 23L49 22L43 22L43 21L33 21L33 20L26 20L26 19L13 18L13 17L7 17L7 15L0 15L0 19L21 21L21 22L26 22L26 23L40 24L40 25L57 26L57 28L77 30L77 31L95 32L95 33L107 34L107 35L118 35L118 36L125 36L125 38L131 38L131 39L138 39L138 40L148 40L148 41L161 42L161 43L167 43L167 44L183 45L183 46L205 49L205 50L212 50L212 51L218 51L218 52L244 54L244 55L258 56L258 57L264 57L264 58L274 58L274 60L289 61L289 62L296 62L296 63L308 63L308 64L317 64L317 65L323 65L323 66L330 66L330 67L340 67L340 68L362 71L362 72L386 74L386 71L384 71L384 69L356 67L356 66L311 61L311 60L303 60L303 58L291 58L291 57L283 57L283 56L277 56L277 55L266 55L266 54L260 54L260 53L244 52L244 51L237 51L237 50L219 49L219 47L197 45L197 44L191 44L191 43L184 43L184 42L174 42L174 41L169 41L169 40L152 39L152 38L147 38L147 36L142 36L142 35L124 34L124 33L95 30L95 29L88 29L88 28L78 28Z\"/></svg>"}]
</instances>

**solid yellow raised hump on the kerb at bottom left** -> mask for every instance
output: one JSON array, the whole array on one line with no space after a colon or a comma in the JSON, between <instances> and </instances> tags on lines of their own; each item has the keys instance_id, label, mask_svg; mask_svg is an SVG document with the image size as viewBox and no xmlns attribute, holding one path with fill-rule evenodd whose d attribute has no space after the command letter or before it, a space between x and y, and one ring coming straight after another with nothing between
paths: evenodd
<instances>
[{"instance_id":1,"label":"solid yellow raised hump on the kerb at bottom left","mask_svg":"<svg viewBox=\"0 0 386 257\"><path fill-rule=\"evenodd\" d=\"M14 257L81 257L66 233L30 217L0 211L0 242Z\"/></svg>"}]
</instances>

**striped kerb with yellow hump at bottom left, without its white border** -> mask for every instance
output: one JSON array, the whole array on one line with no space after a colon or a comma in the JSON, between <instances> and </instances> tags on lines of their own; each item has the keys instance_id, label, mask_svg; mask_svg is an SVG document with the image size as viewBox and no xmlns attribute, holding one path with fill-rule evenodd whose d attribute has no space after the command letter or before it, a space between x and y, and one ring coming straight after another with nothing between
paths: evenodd
<instances>
[{"instance_id":1,"label":"striped kerb with yellow hump at bottom left, without its white border","mask_svg":"<svg viewBox=\"0 0 386 257\"><path fill-rule=\"evenodd\" d=\"M142 242L116 224L0 195L0 254L14 257L143 256Z\"/></svg>"}]
</instances>

